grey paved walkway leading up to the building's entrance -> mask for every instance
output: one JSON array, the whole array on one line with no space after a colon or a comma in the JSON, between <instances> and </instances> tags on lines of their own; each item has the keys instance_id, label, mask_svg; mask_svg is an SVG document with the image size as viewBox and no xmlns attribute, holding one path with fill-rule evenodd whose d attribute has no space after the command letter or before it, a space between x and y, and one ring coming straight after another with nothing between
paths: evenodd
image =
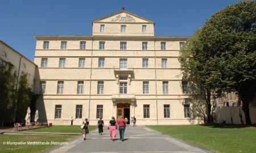
<instances>
[{"instance_id":1,"label":"grey paved walkway leading up to the building's entrance","mask_svg":"<svg viewBox=\"0 0 256 153\"><path fill-rule=\"evenodd\" d=\"M151 130L145 126L127 126L125 141L119 141L119 131L114 141L110 140L109 131L104 133L90 131L84 141L82 137L46 152L210 152L202 148L189 145L166 134Z\"/></svg>"}]
</instances>

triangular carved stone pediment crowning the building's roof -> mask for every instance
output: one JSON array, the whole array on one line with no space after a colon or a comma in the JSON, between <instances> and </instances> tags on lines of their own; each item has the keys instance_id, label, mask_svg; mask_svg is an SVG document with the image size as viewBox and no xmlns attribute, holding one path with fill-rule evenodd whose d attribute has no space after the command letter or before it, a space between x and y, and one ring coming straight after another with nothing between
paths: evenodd
<instances>
[{"instance_id":1,"label":"triangular carved stone pediment crowning the building's roof","mask_svg":"<svg viewBox=\"0 0 256 153\"><path fill-rule=\"evenodd\" d=\"M126 10L121 10L121 11L115 12L113 14L104 16L100 19L96 19L96 20L92 21L92 23L96 23L96 22L98 22L98 23L110 23L110 22L113 22L113 23L127 23L127 22L155 23L152 20L143 18L142 16L135 15Z\"/></svg>"}]
</instances>

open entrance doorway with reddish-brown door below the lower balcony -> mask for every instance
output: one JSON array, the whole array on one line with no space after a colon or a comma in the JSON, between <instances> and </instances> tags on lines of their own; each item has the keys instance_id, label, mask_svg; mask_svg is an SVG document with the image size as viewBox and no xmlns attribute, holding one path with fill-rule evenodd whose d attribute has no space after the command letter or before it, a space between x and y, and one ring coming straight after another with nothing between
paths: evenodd
<instances>
[{"instance_id":1,"label":"open entrance doorway with reddish-brown door below the lower balcony","mask_svg":"<svg viewBox=\"0 0 256 153\"><path fill-rule=\"evenodd\" d=\"M130 104L129 103L125 103L125 104L119 103L119 104L117 104L117 120L121 116L123 118L126 117L128 119L127 124L130 124Z\"/></svg>"}]
</instances>

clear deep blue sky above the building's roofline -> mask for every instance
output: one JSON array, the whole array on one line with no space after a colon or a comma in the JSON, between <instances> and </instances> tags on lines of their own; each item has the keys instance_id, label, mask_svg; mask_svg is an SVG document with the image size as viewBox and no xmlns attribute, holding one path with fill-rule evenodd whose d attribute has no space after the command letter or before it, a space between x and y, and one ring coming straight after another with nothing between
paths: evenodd
<instances>
[{"instance_id":1,"label":"clear deep blue sky above the building's roofline","mask_svg":"<svg viewBox=\"0 0 256 153\"><path fill-rule=\"evenodd\" d=\"M125 6L155 21L155 36L191 36L235 0L1 0L0 39L34 59L34 35L92 35L91 21Z\"/></svg>"}]
</instances>

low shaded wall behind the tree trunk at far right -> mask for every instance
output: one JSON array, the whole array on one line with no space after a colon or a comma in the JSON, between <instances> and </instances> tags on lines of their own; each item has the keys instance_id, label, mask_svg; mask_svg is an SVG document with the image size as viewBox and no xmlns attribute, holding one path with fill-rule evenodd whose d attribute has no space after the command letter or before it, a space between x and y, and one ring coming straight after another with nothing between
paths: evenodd
<instances>
[{"instance_id":1,"label":"low shaded wall behind the tree trunk at far right","mask_svg":"<svg viewBox=\"0 0 256 153\"><path fill-rule=\"evenodd\" d=\"M256 107L250 107L251 123L256 124ZM245 113L242 107L216 107L215 122L222 124L245 124Z\"/></svg>"}]
</instances>

